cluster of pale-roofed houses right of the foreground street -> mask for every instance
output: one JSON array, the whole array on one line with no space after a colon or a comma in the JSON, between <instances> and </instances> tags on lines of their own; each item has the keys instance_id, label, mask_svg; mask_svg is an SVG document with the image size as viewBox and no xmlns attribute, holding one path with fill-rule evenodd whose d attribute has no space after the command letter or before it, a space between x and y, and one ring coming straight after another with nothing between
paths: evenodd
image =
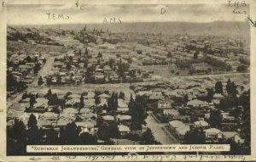
<instances>
[{"instance_id":1,"label":"cluster of pale-roofed houses right of the foreground street","mask_svg":"<svg viewBox=\"0 0 256 162\"><path fill-rule=\"evenodd\" d=\"M214 89L214 84L208 84L207 87ZM207 96L207 90L204 85L198 83L189 83L172 90L163 87L172 87L170 85L154 85L148 88L148 85L141 85L136 88L137 94L148 96L148 103L153 108L154 118L159 122L168 123L166 129L172 133L178 141L183 142L183 137L191 128L201 128L204 131L207 142L218 142L219 140L232 139L237 143L242 143L244 139L240 137L239 119L230 115L230 111L220 110L222 123L217 128L212 128L207 121L210 118L210 112L216 109L216 105L224 98L226 94L214 93L211 102L200 100ZM241 89L237 90L241 94ZM185 101L186 100L186 101ZM176 104L178 103L178 105Z\"/></svg>"}]
</instances>

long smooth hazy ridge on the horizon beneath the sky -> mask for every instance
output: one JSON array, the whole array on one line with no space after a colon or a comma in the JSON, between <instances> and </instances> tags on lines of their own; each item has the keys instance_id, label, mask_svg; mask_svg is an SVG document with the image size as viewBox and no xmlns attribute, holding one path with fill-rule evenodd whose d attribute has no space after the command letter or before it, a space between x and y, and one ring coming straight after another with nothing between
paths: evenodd
<instances>
[{"instance_id":1,"label":"long smooth hazy ridge on the horizon beneath the sky","mask_svg":"<svg viewBox=\"0 0 256 162\"><path fill-rule=\"evenodd\" d=\"M80 30L85 24L65 24L60 25L63 30ZM215 36L241 36L250 37L250 25L247 22L227 22L215 21L211 23L191 23L191 22L142 22L142 23L122 23L122 24L86 24L87 29L102 29L102 31L112 32L143 32L163 34L189 34L189 35L215 35ZM26 27L39 27L26 25ZM58 29L59 25L40 25L44 28Z\"/></svg>"}]
</instances>

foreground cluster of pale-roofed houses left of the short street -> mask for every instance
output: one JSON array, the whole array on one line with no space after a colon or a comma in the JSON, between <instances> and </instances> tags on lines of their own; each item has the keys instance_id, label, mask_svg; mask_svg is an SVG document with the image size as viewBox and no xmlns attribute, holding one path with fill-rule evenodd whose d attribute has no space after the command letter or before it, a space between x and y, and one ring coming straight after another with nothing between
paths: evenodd
<instances>
[{"instance_id":1,"label":"foreground cluster of pale-roofed houses left of the short street","mask_svg":"<svg viewBox=\"0 0 256 162\"><path fill-rule=\"evenodd\" d=\"M60 94L58 98L64 98ZM7 126L12 127L15 120L22 120L25 126L30 115L35 115L38 120L38 126L43 130L54 127L55 131L60 131L61 127L68 123L75 122L76 126L81 128L81 132L88 132L96 135L98 126L96 120L102 118L106 123L117 122L121 137L129 133L131 125L131 115L128 114L128 105L122 98L118 99L118 109L116 113L109 114L104 105L108 105L108 94L100 94L99 103L96 103L95 92L87 92L84 95L84 107L79 108L81 94L69 94L64 99L64 108L60 105L49 105L49 99L44 94L39 94L36 102L30 106L30 98L24 98L19 103L13 103L7 113ZM55 111L58 109L58 111Z\"/></svg>"}]
</instances>

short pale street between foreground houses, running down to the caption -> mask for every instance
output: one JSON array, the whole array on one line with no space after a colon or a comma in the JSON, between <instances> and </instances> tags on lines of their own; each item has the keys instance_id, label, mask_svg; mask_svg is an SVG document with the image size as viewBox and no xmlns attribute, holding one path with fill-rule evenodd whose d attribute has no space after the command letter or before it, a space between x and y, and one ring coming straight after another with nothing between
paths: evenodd
<instances>
[{"instance_id":1,"label":"short pale street between foreground houses, running down to the caption","mask_svg":"<svg viewBox=\"0 0 256 162\"><path fill-rule=\"evenodd\" d=\"M148 128L153 131L153 135L155 137L155 140L161 142L162 144L174 144L177 143L176 139L172 137L172 135L166 133L162 129L162 127L166 126L164 123L158 123L156 120L154 120L154 117L151 113L149 113L148 118L146 119Z\"/></svg>"}]
</instances>

